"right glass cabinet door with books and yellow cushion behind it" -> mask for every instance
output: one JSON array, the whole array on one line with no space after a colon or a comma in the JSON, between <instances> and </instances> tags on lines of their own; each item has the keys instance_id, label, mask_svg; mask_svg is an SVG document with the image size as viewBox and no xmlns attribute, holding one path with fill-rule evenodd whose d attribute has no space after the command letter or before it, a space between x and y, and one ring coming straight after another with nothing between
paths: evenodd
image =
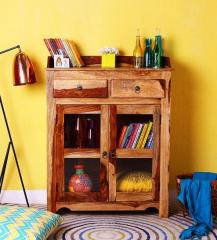
<instances>
[{"instance_id":1,"label":"right glass cabinet door with books and yellow cushion behind it","mask_svg":"<svg viewBox=\"0 0 217 240\"><path fill-rule=\"evenodd\" d=\"M159 106L111 106L110 124L110 200L157 200Z\"/></svg>"}]
</instances>

